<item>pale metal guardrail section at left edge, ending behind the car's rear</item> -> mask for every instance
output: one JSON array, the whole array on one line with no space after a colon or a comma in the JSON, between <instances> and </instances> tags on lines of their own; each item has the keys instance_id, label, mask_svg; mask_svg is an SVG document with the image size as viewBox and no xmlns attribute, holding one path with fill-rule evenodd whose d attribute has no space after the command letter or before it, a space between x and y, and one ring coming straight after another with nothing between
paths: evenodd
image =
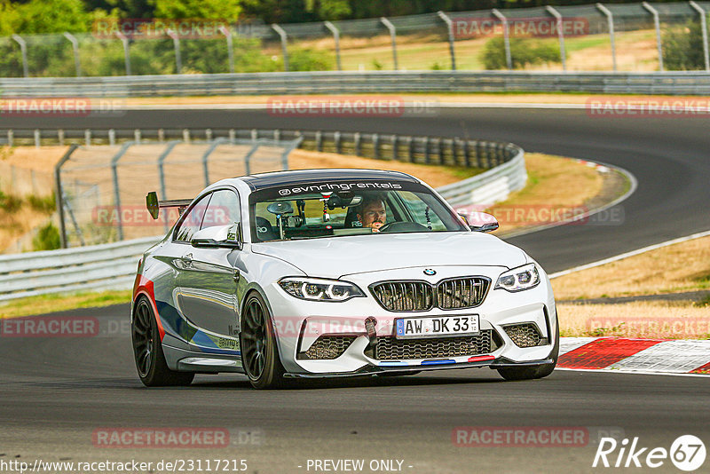
<instances>
[{"instance_id":1,"label":"pale metal guardrail section at left edge, ending behind the car's rear","mask_svg":"<svg viewBox=\"0 0 710 474\"><path fill-rule=\"evenodd\" d=\"M138 257L159 237L0 257L0 302L96 289L127 289Z\"/></svg>"}]
</instances>

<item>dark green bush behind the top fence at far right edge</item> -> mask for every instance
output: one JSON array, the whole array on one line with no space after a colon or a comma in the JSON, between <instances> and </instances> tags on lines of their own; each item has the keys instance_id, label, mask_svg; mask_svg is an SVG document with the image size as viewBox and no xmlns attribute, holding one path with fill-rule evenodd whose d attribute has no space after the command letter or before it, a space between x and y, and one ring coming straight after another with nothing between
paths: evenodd
<instances>
[{"instance_id":1,"label":"dark green bush behind the top fence at far right edge","mask_svg":"<svg viewBox=\"0 0 710 474\"><path fill-rule=\"evenodd\" d=\"M705 69L703 30L699 21L682 28L668 29L663 35L663 64L672 71Z\"/></svg>"}]
</instances>

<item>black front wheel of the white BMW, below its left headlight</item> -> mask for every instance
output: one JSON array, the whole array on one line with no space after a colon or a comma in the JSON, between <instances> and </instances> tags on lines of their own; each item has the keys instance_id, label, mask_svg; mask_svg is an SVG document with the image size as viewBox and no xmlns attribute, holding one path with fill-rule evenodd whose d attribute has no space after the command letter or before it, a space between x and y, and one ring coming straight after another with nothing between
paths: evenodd
<instances>
[{"instance_id":1,"label":"black front wheel of the white BMW, below its left headlight","mask_svg":"<svg viewBox=\"0 0 710 474\"><path fill-rule=\"evenodd\" d=\"M241 317L241 363L255 389L279 388L286 370L281 365L272 318L264 298L252 293Z\"/></svg>"}]
</instances>

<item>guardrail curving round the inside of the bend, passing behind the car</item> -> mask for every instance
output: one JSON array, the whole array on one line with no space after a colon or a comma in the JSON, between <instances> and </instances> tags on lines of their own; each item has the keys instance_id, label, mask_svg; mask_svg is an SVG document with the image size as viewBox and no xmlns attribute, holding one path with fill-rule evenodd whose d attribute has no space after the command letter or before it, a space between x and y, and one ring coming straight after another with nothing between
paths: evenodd
<instances>
[{"instance_id":1,"label":"guardrail curving round the inside of the bend, passing behind the car","mask_svg":"<svg viewBox=\"0 0 710 474\"><path fill-rule=\"evenodd\" d=\"M228 133L228 130L211 130L210 133L216 138L220 131ZM473 178L438 188L438 192L454 208L501 201L510 192L525 186L527 178L524 151L510 143L339 131L234 131L235 136L244 133L255 139L265 134L281 139L302 138L301 146L304 148L357 154L383 161L488 169ZM168 138L165 130L161 137ZM0 256L0 302L51 293L130 288L138 257L159 239L146 237L74 249Z\"/></svg>"}]
</instances>

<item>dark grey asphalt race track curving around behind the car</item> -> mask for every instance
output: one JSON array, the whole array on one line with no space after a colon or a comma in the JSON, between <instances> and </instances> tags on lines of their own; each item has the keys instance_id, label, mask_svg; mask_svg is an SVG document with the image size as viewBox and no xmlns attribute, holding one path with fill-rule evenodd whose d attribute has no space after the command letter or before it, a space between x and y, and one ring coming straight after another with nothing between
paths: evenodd
<instances>
[{"instance_id":1,"label":"dark grey asphalt race track curving around behind the car","mask_svg":"<svg viewBox=\"0 0 710 474\"><path fill-rule=\"evenodd\" d=\"M0 128L283 128L487 138L632 172L638 189L621 204L621 225L566 225L510 240L550 273L710 228L708 124L706 118L602 119L584 110L535 108L359 119L224 110L129 112L105 122L0 119ZM308 459L356 458L366 466L372 459L403 460L402 470L413 473L593 472L604 470L592 469L600 431L666 448L694 434L710 446L710 378L559 370L539 381L506 383L494 371L474 369L288 391L253 391L239 375L198 375L189 388L147 390L135 375L126 307L55 316L82 314L99 318L99 336L0 338L0 462L232 458L248 460L249 472L314 472ZM189 450L92 444L100 428L181 426L225 428L232 444ZM452 432L460 426L584 427L591 436L581 447L455 446ZM256 440L248 442L246 431L257 433ZM653 471L677 472L669 461Z\"/></svg>"}]
</instances>

